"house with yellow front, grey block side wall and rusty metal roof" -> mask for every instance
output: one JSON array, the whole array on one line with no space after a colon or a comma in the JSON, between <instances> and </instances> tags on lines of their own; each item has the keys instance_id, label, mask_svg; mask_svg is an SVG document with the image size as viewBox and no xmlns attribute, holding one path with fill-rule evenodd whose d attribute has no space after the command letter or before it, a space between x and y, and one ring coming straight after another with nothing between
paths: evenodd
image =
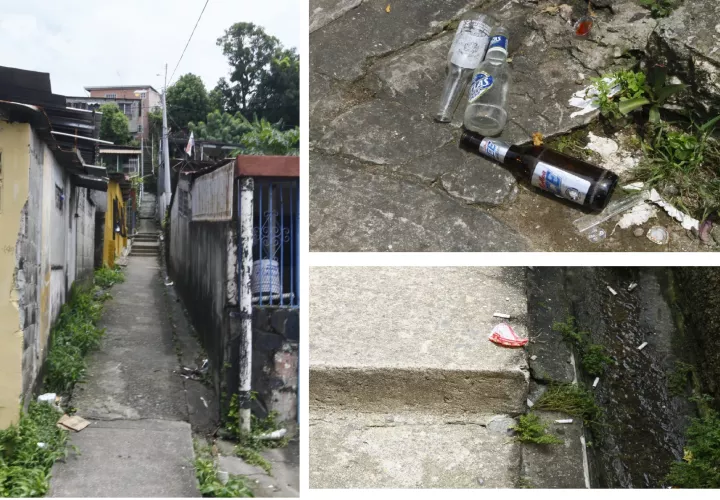
<instances>
[{"instance_id":1,"label":"house with yellow front, grey block side wall and rusty metal roof","mask_svg":"<svg viewBox=\"0 0 720 500\"><path fill-rule=\"evenodd\" d=\"M60 308L92 276L108 189L98 125L47 73L0 67L0 429L32 400Z\"/></svg>"}]
</instances>

